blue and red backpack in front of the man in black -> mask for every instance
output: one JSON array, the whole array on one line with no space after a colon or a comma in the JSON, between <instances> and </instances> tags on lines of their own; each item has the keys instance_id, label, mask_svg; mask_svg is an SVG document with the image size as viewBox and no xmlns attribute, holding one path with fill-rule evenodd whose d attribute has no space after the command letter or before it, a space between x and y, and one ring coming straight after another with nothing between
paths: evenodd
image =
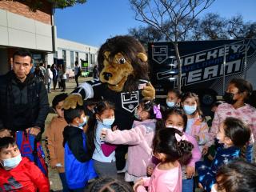
<instances>
[{"instance_id":1,"label":"blue and red backpack in front of the man in black","mask_svg":"<svg viewBox=\"0 0 256 192\"><path fill-rule=\"evenodd\" d=\"M26 131L16 132L16 143L20 150L22 157L29 158L31 162L34 162L42 173L48 175L47 165L45 161L45 153L42 150L40 142L32 134L27 134ZM36 147L34 147L36 146Z\"/></svg>"}]
</instances>

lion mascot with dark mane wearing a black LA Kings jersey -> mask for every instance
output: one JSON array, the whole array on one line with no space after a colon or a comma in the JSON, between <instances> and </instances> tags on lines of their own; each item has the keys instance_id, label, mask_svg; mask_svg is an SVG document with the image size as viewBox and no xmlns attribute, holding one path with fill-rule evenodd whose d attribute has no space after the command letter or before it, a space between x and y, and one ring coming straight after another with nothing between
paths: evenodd
<instances>
[{"instance_id":1,"label":"lion mascot with dark mane wearing a black LA Kings jersey","mask_svg":"<svg viewBox=\"0 0 256 192\"><path fill-rule=\"evenodd\" d=\"M119 130L129 130L134 122L134 110L141 99L153 100L154 87L149 81L149 66L142 44L130 36L107 39L98 52L99 79L84 82L66 98L64 108L82 105L83 99L105 99L114 103L114 124ZM79 99L80 98L80 99ZM116 165L126 165L127 146L116 149Z\"/></svg>"}]
</instances>

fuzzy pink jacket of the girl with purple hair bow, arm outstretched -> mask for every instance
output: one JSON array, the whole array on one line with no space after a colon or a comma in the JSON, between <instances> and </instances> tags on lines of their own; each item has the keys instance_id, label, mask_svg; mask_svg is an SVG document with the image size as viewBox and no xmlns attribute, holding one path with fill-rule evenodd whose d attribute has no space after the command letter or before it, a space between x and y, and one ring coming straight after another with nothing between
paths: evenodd
<instances>
[{"instance_id":1,"label":"fuzzy pink jacket of the girl with purple hair bow, arm outstretched","mask_svg":"<svg viewBox=\"0 0 256 192\"><path fill-rule=\"evenodd\" d=\"M104 140L116 145L130 145L126 161L127 171L136 177L145 177L146 167L152 158L151 146L154 138L155 121L149 119L139 122L137 125L131 130L115 130L114 132L107 130Z\"/></svg>"}]
</instances>

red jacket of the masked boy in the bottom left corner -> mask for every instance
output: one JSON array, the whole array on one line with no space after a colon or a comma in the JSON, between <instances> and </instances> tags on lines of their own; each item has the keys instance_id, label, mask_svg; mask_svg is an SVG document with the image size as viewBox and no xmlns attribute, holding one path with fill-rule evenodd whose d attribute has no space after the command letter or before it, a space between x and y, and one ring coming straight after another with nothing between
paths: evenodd
<instances>
[{"instance_id":1,"label":"red jacket of the masked boy in the bottom left corner","mask_svg":"<svg viewBox=\"0 0 256 192\"><path fill-rule=\"evenodd\" d=\"M34 162L28 158L22 158L12 170L4 170L0 167L0 191L26 191L26 192L49 192L50 184L48 178Z\"/></svg>"}]
</instances>

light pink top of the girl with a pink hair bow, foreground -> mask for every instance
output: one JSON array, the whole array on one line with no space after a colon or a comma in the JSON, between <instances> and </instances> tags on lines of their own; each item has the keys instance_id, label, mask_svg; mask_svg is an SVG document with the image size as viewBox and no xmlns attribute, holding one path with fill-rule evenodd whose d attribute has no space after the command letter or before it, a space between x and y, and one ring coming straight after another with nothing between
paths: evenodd
<instances>
[{"instance_id":1,"label":"light pink top of the girl with a pink hair bow, foreground","mask_svg":"<svg viewBox=\"0 0 256 192\"><path fill-rule=\"evenodd\" d=\"M150 178L143 178L144 185L138 186L136 192L182 192L181 166L171 170L159 170L158 166ZM148 190L144 186L148 186Z\"/></svg>"}]
</instances>

